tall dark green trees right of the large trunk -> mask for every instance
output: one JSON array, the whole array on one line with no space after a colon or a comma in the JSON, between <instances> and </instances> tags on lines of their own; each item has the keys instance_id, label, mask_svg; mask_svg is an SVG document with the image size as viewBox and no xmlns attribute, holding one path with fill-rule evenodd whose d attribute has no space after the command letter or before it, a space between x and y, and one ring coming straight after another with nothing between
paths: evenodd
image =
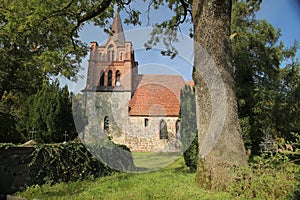
<instances>
[{"instance_id":1,"label":"tall dark green trees right of the large trunk","mask_svg":"<svg viewBox=\"0 0 300 200\"><path fill-rule=\"evenodd\" d=\"M246 148L255 154L300 131L298 44L286 48L279 29L256 19L260 3L235 1L231 25L239 116Z\"/></svg>"}]
</instances>

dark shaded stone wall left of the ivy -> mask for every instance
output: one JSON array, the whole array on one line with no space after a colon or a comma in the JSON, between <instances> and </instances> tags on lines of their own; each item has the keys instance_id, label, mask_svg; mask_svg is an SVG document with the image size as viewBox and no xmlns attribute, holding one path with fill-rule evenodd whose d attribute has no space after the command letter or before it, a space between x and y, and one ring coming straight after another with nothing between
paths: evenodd
<instances>
[{"instance_id":1,"label":"dark shaded stone wall left of the ivy","mask_svg":"<svg viewBox=\"0 0 300 200\"><path fill-rule=\"evenodd\" d=\"M33 147L0 148L0 195L12 194L31 185L29 176Z\"/></svg>"}]
</instances>

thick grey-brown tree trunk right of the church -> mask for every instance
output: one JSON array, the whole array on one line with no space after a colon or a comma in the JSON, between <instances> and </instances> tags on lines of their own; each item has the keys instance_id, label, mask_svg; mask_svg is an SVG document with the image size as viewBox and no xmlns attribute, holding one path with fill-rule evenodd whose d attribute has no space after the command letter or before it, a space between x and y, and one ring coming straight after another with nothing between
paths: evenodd
<instances>
[{"instance_id":1,"label":"thick grey-brown tree trunk right of the church","mask_svg":"<svg viewBox=\"0 0 300 200\"><path fill-rule=\"evenodd\" d=\"M223 189L247 165L237 115L230 48L231 0L194 0L194 72L199 135L196 181Z\"/></svg>"}]
</instances>

